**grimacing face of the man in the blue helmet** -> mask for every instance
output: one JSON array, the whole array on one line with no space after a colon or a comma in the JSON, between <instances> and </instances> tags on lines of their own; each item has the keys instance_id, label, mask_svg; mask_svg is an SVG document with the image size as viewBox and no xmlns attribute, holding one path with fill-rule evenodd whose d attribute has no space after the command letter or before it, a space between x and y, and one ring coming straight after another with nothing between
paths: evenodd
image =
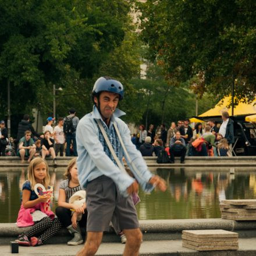
<instances>
[{"instance_id":1,"label":"grimacing face of the man in the blue helmet","mask_svg":"<svg viewBox=\"0 0 256 256\"><path fill-rule=\"evenodd\" d=\"M98 106L97 97L94 97L94 102ZM116 106L118 106L118 102L119 94L102 91L102 93L99 95L99 109L101 111L101 115L106 119L111 118L113 112L116 110Z\"/></svg>"}]
</instances>

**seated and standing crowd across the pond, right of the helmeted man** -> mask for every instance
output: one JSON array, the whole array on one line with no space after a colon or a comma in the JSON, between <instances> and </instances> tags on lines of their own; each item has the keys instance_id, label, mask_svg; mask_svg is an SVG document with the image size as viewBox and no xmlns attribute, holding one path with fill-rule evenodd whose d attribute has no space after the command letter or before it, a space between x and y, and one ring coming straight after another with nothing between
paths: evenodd
<instances>
[{"instance_id":1,"label":"seated and standing crowd across the pond, right of the helmeted man","mask_svg":"<svg viewBox=\"0 0 256 256\"><path fill-rule=\"evenodd\" d=\"M229 113L223 112L220 124L209 120L191 127L189 119L185 119L179 120L177 125L172 122L168 130L165 125L156 130L154 125L150 125L148 131L140 125L138 133L133 134L131 140L144 157L158 157L165 150L170 163L175 162L175 157L180 157L180 162L184 163L186 155L231 157L234 143L233 120L229 118Z\"/></svg>"}]
</instances>

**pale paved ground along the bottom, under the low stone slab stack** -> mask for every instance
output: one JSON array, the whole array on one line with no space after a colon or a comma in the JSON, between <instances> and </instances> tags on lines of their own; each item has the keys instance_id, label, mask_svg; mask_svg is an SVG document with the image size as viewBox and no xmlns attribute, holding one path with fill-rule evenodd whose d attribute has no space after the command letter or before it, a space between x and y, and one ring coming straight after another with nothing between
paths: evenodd
<instances>
[{"instance_id":1,"label":"pale paved ground along the bottom, under the low stone slab stack","mask_svg":"<svg viewBox=\"0 0 256 256\"><path fill-rule=\"evenodd\" d=\"M44 245L39 247L19 247L20 256L73 256L79 251L79 246L67 246L64 244ZM121 243L102 243L96 255L119 256L122 255L125 246ZM9 246L0 246L0 255L15 255L10 253ZM170 255L170 256L253 256L256 255L256 238L239 239L239 251L212 251L197 252L182 247L181 240L144 241L140 250L141 256Z\"/></svg>"}]
</instances>

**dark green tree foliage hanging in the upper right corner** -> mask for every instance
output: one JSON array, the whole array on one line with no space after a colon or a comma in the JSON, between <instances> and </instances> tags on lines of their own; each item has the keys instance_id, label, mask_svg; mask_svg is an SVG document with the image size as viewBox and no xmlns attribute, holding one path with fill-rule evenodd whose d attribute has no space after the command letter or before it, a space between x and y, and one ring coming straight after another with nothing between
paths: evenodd
<instances>
[{"instance_id":1,"label":"dark green tree foliage hanging in the upper right corner","mask_svg":"<svg viewBox=\"0 0 256 256\"><path fill-rule=\"evenodd\" d=\"M139 3L143 40L165 76L191 79L205 91L237 98L256 92L256 2L253 0L148 0ZM200 80L200 83L195 83Z\"/></svg>"}]
</instances>

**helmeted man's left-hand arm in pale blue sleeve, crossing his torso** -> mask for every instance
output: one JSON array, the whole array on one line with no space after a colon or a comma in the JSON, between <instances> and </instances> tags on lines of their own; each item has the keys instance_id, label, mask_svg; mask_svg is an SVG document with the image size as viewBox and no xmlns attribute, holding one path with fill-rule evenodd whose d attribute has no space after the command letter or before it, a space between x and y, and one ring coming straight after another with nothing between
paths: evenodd
<instances>
[{"instance_id":1,"label":"helmeted man's left-hand arm in pale blue sleeve, crossing his torso","mask_svg":"<svg viewBox=\"0 0 256 256\"><path fill-rule=\"evenodd\" d=\"M102 175L110 177L119 187L121 193L126 194L126 189L134 182L134 179L120 170L105 154L104 148L98 139L97 131L95 131L90 120L88 122L79 122L76 130L76 141L80 141L87 150L88 155L90 155L91 160Z\"/></svg>"}]
</instances>

